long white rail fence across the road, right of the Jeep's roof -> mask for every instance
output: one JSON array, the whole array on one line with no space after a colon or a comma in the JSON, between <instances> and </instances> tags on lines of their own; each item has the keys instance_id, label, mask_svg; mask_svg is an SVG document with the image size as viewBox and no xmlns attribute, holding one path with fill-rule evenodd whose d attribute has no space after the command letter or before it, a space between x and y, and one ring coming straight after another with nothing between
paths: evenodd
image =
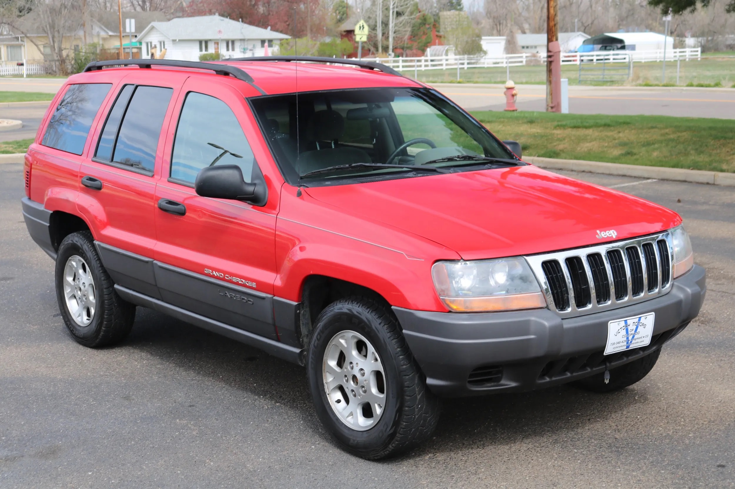
<instances>
[{"instance_id":1,"label":"long white rail fence across the road, right of the Jeep's roof","mask_svg":"<svg viewBox=\"0 0 735 489\"><path fill-rule=\"evenodd\" d=\"M701 59L701 48L668 49L666 60L677 59L689 61ZM614 51L609 53L563 53L562 65L579 65L580 63L630 63L652 62L664 59L664 51ZM469 68L500 68L508 66L525 66L545 64L546 54L505 54L503 57L417 57L417 58L363 58L363 61L376 61L399 71L448 70Z\"/></svg>"}]
</instances>

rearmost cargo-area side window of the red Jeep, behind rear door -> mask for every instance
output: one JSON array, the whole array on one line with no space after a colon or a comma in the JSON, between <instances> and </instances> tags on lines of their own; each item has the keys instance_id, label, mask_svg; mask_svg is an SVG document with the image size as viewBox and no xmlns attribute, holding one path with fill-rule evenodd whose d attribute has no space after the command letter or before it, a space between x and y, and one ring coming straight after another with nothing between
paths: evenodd
<instances>
[{"instance_id":1,"label":"rearmost cargo-area side window of the red Jeep, behind rear door","mask_svg":"<svg viewBox=\"0 0 735 489\"><path fill-rule=\"evenodd\" d=\"M71 85L51 116L41 144L67 153L82 154L92 121L110 87L110 83Z\"/></svg>"}]
</instances>

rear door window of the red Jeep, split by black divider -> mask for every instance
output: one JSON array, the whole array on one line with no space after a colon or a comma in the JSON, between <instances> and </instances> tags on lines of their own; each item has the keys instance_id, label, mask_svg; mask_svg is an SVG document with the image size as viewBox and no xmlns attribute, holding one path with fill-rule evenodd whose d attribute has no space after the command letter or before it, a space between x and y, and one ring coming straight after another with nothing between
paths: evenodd
<instances>
[{"instance_id":1,"label":"rear door window of the red Jeep, split by black divider","mask_svg":"<svg viewBox=\"0 0 735 489\"><path fill-rule=\"evenodd\" d=\"M95 159L153 173L156 149L173 89L126 85L112 106Z\"/></svg>"}]
</instances>

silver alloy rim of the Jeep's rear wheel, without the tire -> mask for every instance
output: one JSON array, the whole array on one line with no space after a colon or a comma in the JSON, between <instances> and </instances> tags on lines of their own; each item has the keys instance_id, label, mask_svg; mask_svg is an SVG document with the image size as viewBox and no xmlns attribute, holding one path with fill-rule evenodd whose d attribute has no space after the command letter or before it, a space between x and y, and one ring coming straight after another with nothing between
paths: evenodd
<instances>
[{"instance_id":1,"label":"silver alloy rim of the Jeep's rear wheel, without the tire","mask_svg":"<svg viewBox=\"0 0 735 489\"><path fill-rule=\"evenodd\" d=\"M69 314L79 326L89 326L97 305L90 267L81 256L73 255L64 267L64 298Z\"/></svg>"}]
</instances>

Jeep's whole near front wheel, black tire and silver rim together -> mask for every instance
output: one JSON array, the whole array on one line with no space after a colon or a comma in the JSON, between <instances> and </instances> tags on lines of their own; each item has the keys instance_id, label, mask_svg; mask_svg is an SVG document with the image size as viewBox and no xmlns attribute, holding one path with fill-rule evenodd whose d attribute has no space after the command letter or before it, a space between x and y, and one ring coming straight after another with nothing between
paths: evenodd
<instances>
[{"instance_id":1,"label":"Jeep's whole near front wheel, black tire and silver rim together","mask_svg":"<svg viewBox=\"0 0 735 489\"><path fill-rule=\"evenodd\" d=\"M307 358L319 419L343 448L376 460L426 440L439 417L398 322L374 300L350 297L315 323Z\"/></svg>"}]
</instances>

